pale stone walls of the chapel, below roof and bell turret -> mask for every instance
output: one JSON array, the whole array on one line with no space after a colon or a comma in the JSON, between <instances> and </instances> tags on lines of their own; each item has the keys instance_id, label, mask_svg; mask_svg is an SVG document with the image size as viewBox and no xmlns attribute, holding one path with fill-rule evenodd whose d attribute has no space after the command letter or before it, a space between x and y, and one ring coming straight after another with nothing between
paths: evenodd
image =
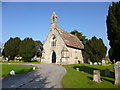
<instances>
[{"instance_id":1,"label":"pale stone walls of the chapel, below roof and bell turret","mask_svg":"<svg viewBox=\"0 0 120 90\"><path fill-rule=\"evenodd\" d=\"M56 36L56 46L51 47L50 39L51 37ZM84 63L82 57L82 51L79 49L74 49L71 47L67 47L61 38L59 32L57 30L51 30L47 36L46 41L43 45L43 54L41 62L43 63L52 63L52 53L53 51L56 53L56 63L57 64L76 64L76 63ZM62 58L62 50L66 48L69 52L69 57Z\"/></svg>"}]
</instances>

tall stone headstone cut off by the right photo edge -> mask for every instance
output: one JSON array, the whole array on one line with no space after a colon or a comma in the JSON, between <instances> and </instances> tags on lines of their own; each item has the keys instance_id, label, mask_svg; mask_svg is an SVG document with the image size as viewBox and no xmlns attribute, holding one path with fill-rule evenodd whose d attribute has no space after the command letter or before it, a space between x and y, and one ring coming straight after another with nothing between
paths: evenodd
<instances>
[{"instance_id":1,"label":"tall stone headstone cut off by the right photo edge","mask_svg":"<svg viewBox=\"0 0 120 90\"><path fill-rule=\"evenodd\" d=\"M115 68L115 84L120 85L120 61L114 64Z\"/></svg>"}]
</instances>

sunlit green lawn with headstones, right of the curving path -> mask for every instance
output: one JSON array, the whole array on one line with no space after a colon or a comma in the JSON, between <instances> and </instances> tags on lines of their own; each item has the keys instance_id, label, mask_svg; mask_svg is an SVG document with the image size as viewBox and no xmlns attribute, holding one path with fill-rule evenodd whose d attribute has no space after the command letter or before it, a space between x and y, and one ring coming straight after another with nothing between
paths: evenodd
<instances>
[{"instance_id":1,"label":"sunlit green lawn with headstones, right of the curving path","mask_svg":"<svg viewBox=\"0 0 120 90\"><path fill-rule=\"evenodd\" d=\"M64 88L118 88L114 85L114 68L113 65L89 65L89 64L71 64L63 65L67 74L63 77L62 84ZM79 68L80 71L76 71ZM93 81L93 70L101 70L102 83ZM104 74L104 70L110 70L110 76ZM119 87L120 88L120 87Z\"/></svg>"}]
</instances>

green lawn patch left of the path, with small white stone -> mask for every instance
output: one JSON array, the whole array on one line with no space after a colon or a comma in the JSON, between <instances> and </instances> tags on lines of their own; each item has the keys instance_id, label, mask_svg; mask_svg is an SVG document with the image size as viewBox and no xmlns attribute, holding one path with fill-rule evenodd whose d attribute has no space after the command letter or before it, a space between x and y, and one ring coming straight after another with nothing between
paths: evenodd
<instances>
[{"instance_id":1,"label":"green lawn patch left of the path, with small white stone","mask_svg":"<svg viewBox=\"0 0 120 90\"><path fill-rule=\"evenodd\" d=\"M32 65L0 64L0 67L2 67L2 70L0 70L0 76L10 75L9 72L11 70L14 70L16 74L33 71ZM38 67L36 67L36 69L38 69Z\"/></svg>"}]
</instances>

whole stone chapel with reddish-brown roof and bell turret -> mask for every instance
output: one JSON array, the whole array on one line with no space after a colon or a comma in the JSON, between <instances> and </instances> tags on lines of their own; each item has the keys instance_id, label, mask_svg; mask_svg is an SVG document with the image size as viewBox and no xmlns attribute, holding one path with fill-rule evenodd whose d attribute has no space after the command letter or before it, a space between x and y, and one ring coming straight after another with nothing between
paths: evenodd
<instances>
[{"instance_id":1,"label":"whole stone chapel with reddish-brown roof and bell turret","mask_svg":"<svg viewBox=\"0 0 120 90\"><path fill-rule=\"evenodd\" d=\"M76 64L84 63L84 45L75 36L58 27L57 16L51 16L51 29L43 45L43 63Z\"/></svg>"}]
</instances>

